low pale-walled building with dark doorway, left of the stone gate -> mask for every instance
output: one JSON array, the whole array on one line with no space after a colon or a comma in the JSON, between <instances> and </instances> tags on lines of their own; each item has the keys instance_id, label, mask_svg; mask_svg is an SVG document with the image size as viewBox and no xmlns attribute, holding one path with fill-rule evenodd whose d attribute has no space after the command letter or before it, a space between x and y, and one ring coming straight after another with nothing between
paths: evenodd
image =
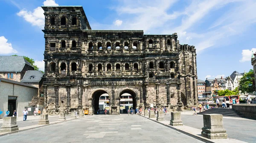
<instances>
[{"instance_id":1,"label":"low pale-walled building with dark doorway, left of the stone gate","mask_svg":"<svg viewBox=\"0 0 256 143\"><path fill-rule=\"evenodd\" d=\"M25 107L29 107L29 102L33 96L37 96L38 87L33 85L0 78L0 109L9 109L10 115L16 110L17 116L23 116ZM4 114L0 115L3 118Z\"/></svg>"}]
</instances>

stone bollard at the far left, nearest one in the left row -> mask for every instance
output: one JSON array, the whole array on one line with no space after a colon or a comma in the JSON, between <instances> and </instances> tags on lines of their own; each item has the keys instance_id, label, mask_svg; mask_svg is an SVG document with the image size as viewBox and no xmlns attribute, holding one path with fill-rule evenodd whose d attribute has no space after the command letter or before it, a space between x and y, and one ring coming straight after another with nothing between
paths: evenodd
<instances>
[{"instance_id":1,"label":"stone bollard at the far left, nearest one in the left row","mask_svg":"<svg viewBox=\"0 0 256 143\"><path fill-rule=\"evenodd\" d=\"M0 132L12 132L19 130L18 125L16 124L16 118L17 117L4 117Z\"/></svg>"}]
</instances>

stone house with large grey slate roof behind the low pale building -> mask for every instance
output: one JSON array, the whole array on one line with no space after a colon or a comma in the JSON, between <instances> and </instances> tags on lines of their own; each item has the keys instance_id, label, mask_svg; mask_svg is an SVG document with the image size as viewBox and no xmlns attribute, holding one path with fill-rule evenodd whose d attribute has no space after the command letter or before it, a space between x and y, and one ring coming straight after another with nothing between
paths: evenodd
<instances>
[{"instance_id":1,"label":"stone house with large grey slate roof behind the low pale building","mask_svg":"<svg viewBox=\"0 0 256 143\"><path fill-rule=\"evenodd\" d=\"M21 81L27 70L34 67L23 56L0 56L0 77Z\"/></svg>"}]
</instances>

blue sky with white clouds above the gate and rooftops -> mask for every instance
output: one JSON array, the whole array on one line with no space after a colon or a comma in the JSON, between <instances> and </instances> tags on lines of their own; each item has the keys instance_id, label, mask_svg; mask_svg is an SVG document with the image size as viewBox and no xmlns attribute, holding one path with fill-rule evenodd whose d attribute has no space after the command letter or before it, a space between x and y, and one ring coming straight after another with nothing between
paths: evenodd
<instances>
[{"instance_id":1,"label":"blue sky with white clouds above the gate and rooftops","mask_svg":"<svg viewBox=\"0 0 256 143\"><path fill-rule=\"evenodd\" d=\"M252 69L255 0L0 0L0 55L28 56L44 70L43 5L83 6L92 29L177 33L197 49L202 80Z\"/></svg>"}]
</instances>

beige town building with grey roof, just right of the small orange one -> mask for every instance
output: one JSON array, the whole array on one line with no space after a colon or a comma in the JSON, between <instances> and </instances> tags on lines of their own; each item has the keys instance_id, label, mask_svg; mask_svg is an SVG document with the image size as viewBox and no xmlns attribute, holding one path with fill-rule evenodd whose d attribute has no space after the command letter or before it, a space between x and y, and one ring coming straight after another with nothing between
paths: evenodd
<instances>
[{"instance_id":1,"label":"beige town building with grey roof, just right of the small orange one","mask_svg":"<svg viewBox=\"0 0 256 143\"><path fill-rule=\"evenodd\" d=\"M212 97L218 95L218 90L226 90L226 80L221 76L221 78L206 79L206 92L211 92Z\"/></svg>"}]
</instances>

